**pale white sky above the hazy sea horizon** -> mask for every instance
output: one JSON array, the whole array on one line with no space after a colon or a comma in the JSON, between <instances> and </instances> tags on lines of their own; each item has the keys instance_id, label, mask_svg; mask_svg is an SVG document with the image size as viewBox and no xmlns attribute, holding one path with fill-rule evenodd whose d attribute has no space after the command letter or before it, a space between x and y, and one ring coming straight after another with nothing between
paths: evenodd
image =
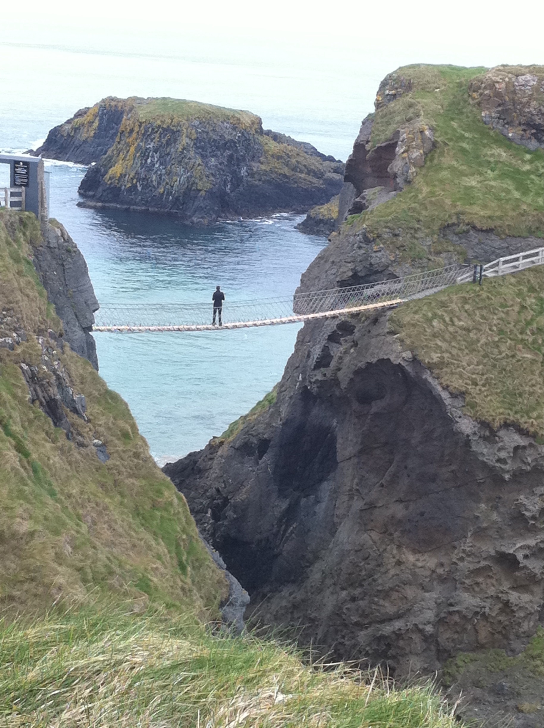
<instances>
[{"instance_id":1,"label":"pale white sky above the hazy sea horizon","mask_svg":"<svg viewBox=\"0 0 544 728\"><path fill-rule=\"evenodd\" d=\"M406 63L453 63L492 66L497 63L543 62L543 7L540 0L521 5L484 0L410 3L390 0L27 0L4 4L0 40L13 32L127 33L148 28L157 40L162 34L197 35L202 43L228 33L233 44L245 42L296 44L323 55L339 48L363 51L365 56L388 53L411 58ZM393 70L393 69L392 69Z\"/></svg>"}]
</instances>

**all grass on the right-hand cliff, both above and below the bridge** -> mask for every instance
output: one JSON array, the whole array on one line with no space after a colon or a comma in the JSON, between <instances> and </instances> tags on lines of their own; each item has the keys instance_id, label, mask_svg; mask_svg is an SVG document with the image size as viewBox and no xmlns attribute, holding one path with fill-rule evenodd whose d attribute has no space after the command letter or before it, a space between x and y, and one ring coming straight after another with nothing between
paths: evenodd
<instances>
[{"instance_id":1,"label":"all grass on the right-hand cliff, both above and below the bridge","mask_svg":"<svg viewBox=\"0 0 544 728\"><path fill-rule=\"evenodd\" d=\"M379 108L371 145L414 119L435 130L436 148L394 199L344 227L367 232L401 260L435 267L433 254L459 250L441 234L452 224L503 235L542 235L543 152L511 143L481 121L468 82L484 68L406 66L413 91ZM532 68L542 74L542 68ZM422 240L431 245L422 245ZM464 256L461 250L461 256ZM464 392L465 411L494 427L511 422L537 438L542 421L542 269L450 288L411 301L390 322L441 381Z\"/></svg>"}]
</instances>

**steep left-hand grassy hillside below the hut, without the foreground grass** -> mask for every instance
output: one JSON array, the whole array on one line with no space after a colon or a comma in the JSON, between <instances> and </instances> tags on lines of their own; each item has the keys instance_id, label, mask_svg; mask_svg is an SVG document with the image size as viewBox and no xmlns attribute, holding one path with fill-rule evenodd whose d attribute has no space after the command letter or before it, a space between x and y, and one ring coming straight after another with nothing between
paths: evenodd
<instances>
[{"instance_id":1,"label":"steep left-hand grassy hillside below the hut, without the foreground grass","mask_svg":"<svg viewBox=\"0 0 544 728\"><path fill-rule=\"evenodd\" d=\"M1 213L0 310L12 309L28 340L0 349L0 606L40 610L114 591L135 609L151 599L215 614L224 581L121 397L65 347L60 362L87 400L88 422L68 414L78 437L66 440L28 401L19 363L40 366L35 333L60 330L30 240L39 244L33 215ZM108 462L93 439L106 444Z\"/></svg>"}]
</instances>

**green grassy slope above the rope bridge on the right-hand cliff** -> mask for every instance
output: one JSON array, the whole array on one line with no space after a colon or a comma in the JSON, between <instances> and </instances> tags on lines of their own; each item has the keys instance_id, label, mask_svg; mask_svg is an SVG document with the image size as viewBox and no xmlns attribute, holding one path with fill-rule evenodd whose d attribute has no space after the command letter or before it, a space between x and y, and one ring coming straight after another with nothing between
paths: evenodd
<instances>
[{"instance_id":1,"label":"green grassy slope above the rope bridge on the right-hand cliff","mask_svg":"<svg viewBox=\"0 0 544 728\"><path fill-rule=\"evenodd\" d=\"M444 245L440 230L450 224L461 231L473 226L542 237L543 151L511 143L481 121L468 82L484 70L407 66L397 71L413 80L414 90L376 112L371 144L385 141L403 122L422 119L435 130L436 148L401 194L347 221L353 232L364 225L406 258L425 256L417 245L421 237ZM391 237L391 231L401 234Z\"/></svg>"}]
</instances>

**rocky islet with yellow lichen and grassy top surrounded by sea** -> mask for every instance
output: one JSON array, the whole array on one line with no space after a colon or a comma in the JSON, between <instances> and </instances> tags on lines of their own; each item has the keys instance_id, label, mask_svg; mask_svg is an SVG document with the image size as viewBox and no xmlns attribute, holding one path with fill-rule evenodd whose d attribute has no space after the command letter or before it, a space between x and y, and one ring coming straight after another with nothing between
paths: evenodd
<instances>
[{"instance_id":1,"label":"rocky islet with yellow lichen and grassy top surrounded by sea","mask_svg":"<svg viewBox=\"0 0 544 728\"><path fill-rule=\"evenodd\" d=\"M92 207L154 210L192 224L306 212L342 187L344 165L263 130L248 111L168 98L106 98L52 129L36 151L91 165Z\"/></svg>"}]
</instances>

